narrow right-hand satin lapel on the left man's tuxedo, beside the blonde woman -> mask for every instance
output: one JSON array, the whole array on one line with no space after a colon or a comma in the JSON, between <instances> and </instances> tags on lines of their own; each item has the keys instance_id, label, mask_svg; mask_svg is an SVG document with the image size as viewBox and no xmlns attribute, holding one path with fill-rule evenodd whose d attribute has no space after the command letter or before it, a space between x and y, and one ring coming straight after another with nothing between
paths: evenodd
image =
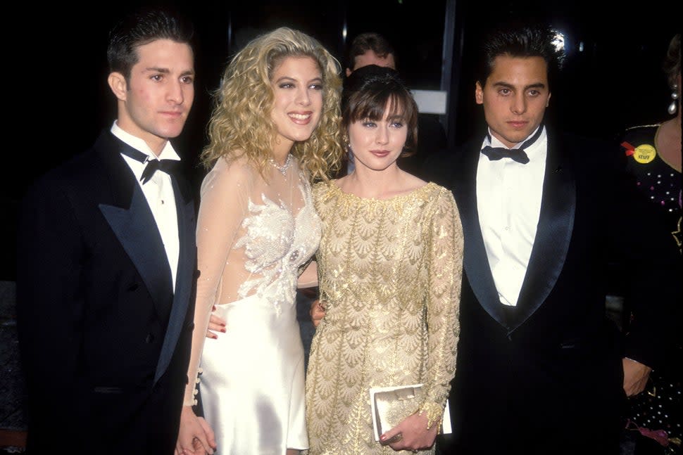
<instances>
[{"instance_id":1,"label":"narrow right-hand satin lapel on the left man's tuxedo, beside the blonde woman","mask_svg":"<svg viewBox=\"0 0 683 455\"><path fill-rule=\"evenodd\" d=\"M175 352L175 345L177 345L178 338L180 337L189 300L192 295L192 281L195 278L194 270L196 267L194 201L189 194L181 193L175 177L171 177L171 179L173 180L173 192L177 195L175 198L175 208L178 218L180 256L178 257L173 309L171 309L170 318L168 319L166 336L163 340L161 354L159 354L159 361L156 366L155 383L168 368L173 352Z\"/></svg>"}]
</instances>

